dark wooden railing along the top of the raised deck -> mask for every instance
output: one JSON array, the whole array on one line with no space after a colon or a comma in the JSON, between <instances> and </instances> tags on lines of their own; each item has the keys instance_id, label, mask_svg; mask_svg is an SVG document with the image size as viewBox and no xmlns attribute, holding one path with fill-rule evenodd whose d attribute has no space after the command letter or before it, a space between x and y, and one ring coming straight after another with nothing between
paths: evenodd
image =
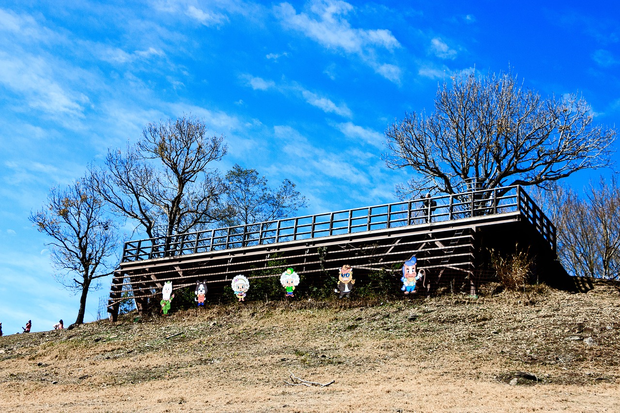
<instances>
[{"instance_id":1,"label":"dark wooden railing along the top of the raised deck","mask_svg":"<svg viewBox=\"0 0 620 413\"><path fill-rule=\"evenodd\" d=\"M123 262L464 220L516 211L520 211L549 242L552 250L556 251L555 226L529 195L516 185L128 241L123 249Z\"/></svg>"}]
</instances>

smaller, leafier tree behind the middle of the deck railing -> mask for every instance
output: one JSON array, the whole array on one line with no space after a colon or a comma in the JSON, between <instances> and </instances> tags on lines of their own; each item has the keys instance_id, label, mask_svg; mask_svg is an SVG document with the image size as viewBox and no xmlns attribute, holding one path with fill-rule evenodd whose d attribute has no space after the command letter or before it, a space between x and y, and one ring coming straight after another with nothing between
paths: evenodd
<instances>
[{"instance_id":1,"label":"smaller, leafier tree behind the middle of the deck railing","mask_svg":"<svg viewBox=\"0 0 620 413\"><path fill-rule=\"evenodd\" d=\"M234 210L229 224L241 225L279 220L306 208L306 197L295 190L295 184L285 179L273 189L267 179L255 169L244 169L238 164L226 174L226 200Z\"/></svg>"}]
</instances>

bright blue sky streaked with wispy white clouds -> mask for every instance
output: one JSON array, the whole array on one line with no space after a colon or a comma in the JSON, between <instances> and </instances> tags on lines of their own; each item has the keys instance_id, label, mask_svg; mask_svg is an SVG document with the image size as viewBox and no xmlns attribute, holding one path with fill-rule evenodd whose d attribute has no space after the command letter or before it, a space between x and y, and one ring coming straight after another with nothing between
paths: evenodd
<instances>
[{"instance_id":1,"label":"bright blue sky streaked with wispy white clouds","mask_svg":"<svg viewBox=\"0 0 620 413\"><path fill-rule=\"evenodd\" d=\"M430 112L452 73L510 65L542 95L582 92L596 123L620 123L619 27L611 1L3 1L4 334L74 321L78 297L53 279L29 213L148 122L204 118L226 136L221 171L291 179L308 214L392 202L409 172L384 166L383 131Z\"/></svg>"}]
</instances>

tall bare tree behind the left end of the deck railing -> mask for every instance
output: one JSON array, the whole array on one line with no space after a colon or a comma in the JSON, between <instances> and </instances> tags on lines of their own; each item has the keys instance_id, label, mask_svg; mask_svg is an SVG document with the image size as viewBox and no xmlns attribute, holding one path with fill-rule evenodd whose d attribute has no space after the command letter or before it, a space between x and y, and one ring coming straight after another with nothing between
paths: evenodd
<instances>
[{"instance_id":1,"label":"tall bare tree behind the left end of the deck railing","mask_svg":"<svg viewBox=\"0 0 620 413\"><path fill-rule=\"evenodd\" d=\"M219 202L226 185L211 164L227 148L223 136L206 132L195 117L149 123L138 143L109 150L105 168L91 168L95 190L150 238L156 228L169 237L223 219L230 213Z\"/></svg>"}]
</instances>

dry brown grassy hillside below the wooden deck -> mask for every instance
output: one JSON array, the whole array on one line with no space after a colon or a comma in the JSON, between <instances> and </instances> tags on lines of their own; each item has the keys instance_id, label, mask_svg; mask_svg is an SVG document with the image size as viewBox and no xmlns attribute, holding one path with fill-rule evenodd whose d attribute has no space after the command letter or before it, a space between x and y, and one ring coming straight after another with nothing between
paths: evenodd
<instances>
[{"instance_id":1,"label":"dry brown grassy hillside below the wooden deck","mask_svg":"<svg viewBox=\"0 0 620 413\"><path fill-rule=\"evenodd\" d=\"M619 412L619 291L255 302L9 335L0 409Z\"/></svg>"}]
</instances>

